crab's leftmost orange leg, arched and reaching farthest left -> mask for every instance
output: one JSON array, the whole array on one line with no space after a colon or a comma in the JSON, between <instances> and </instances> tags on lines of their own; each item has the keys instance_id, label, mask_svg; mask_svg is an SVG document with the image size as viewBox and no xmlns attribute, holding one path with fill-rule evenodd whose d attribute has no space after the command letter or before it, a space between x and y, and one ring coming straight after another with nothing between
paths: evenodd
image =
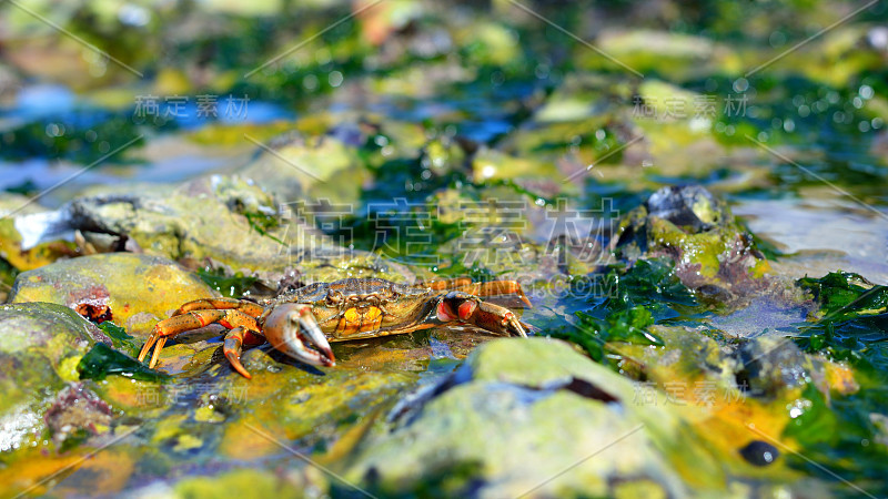
<instances>
[{"instance_id":1,"label":"crab's leftmost orange leg, arched and reaching farthest left","mask_svg":"<svg viewBox=\"0 0 888 499\"><path fill-rule=\"evenodd\" d=\"M157 343L154 354L151 356L151 361L148 364L148 367L153 369L158 364L158 354L167 344L168 338L189 330L200 329L213 323L219 323L226 328L242 326L248 329L248 333L259 332L256 319L238 309L196 309L186 312L163 319L154 325L151 336L148 337L144 346L142 346L142 350L139 353L139 361L145 358L148 352L151 350L151 347ZM252 333L250 334L253 336Z\"/></svg>"}]
</instances>

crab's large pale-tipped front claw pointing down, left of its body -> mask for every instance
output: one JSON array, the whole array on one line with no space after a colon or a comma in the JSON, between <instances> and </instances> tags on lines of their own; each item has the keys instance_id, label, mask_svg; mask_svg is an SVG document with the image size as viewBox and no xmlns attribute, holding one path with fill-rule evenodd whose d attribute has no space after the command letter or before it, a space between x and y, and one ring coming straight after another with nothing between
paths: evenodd
<instances>
[{"instance_id":1,"label":"crab's large pale-tipped front claw pointing down, left of its body","mask_svg":"<svg viewBox=\"0 0 888 499\"><path fill-rule=\"evenodd\" d=\"M313 366L336 365L330 343L307 305L279 305L265 319L263 333L274 348L296 360Z\"/></svg>"}]
</instances>

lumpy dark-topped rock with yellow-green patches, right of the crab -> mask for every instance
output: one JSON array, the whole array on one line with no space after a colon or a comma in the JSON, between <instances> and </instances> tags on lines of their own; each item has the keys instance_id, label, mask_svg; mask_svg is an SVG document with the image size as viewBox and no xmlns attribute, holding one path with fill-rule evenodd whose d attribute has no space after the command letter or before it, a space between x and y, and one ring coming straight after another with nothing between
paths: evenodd
<instances>
[{"instance_id":1,"label":"lumpy dark-topped rock with yellow-green patches, right of the crab","mask_svg":"<svg viewBox=\"0 0 888 499\"><path fill-rule=\"evenodd\" d=\"M668 256L692 289L727 302L770 286L769 266L727 205L700 186L663 187L620 222L617 255Z\"/></svg>"}]
</instances>

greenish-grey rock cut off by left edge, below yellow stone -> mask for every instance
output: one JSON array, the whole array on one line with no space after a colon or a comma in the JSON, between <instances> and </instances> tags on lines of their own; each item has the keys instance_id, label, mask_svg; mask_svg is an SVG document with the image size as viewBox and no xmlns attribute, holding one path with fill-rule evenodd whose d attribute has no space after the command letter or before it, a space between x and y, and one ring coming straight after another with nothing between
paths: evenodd
<instances>
[{"instance_id":1,"label":"greenish-grey rock cut off by left edge, below yellow stone","mask_svg":"<svg viewBox=\"0 0 888 499\"><path fill-rule=\"evenodd\" d=\"M42 411L97 342L111 339L68 307L48 303L0 305L0 450L41 438Z\"/></svg>"}]
</instances>

